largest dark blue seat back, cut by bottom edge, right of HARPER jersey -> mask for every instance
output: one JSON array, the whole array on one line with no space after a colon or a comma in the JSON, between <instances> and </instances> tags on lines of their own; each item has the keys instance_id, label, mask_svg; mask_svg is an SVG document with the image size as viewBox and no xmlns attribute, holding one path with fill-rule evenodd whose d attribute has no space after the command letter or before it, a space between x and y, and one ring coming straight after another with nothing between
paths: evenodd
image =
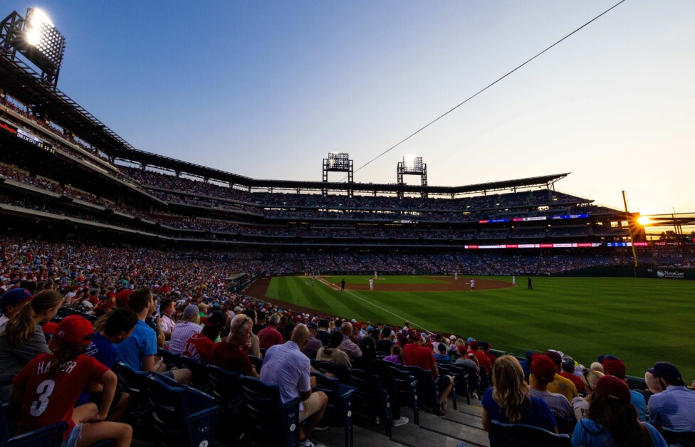
<instances>
[{"instance_id":1,"label":"largest dark blue seat back, cut by bottom edge, right of HARPER jersey","mask_svg":"<svg viewBox=\"0 0 695 447\"><path fill-rule=\"evenodd\" d=\"M146 382L160 445L214 444L219 406L212 396L192 386L169 386L153 376L147 377Z\"/></svg>"}]
</instances>

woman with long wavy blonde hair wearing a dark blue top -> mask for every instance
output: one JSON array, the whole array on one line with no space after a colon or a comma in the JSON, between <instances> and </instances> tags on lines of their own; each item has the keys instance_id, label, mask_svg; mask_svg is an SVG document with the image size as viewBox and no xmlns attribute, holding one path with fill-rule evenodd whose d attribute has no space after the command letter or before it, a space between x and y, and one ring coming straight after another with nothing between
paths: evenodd
<instances>
[{"instance_id":1,"label":"woman with long wavy blonde hair wearing a dark blue top","mask_svg":"<svg viewBox=\"0 0 695 447\"><path fill-rule=\"evenodd\" d=\"M558 433L550 406L540 397L529 394L521 364L511 355L498 357L492 369L492 387L481 401L483 429L490 431L492 421L526 424Z\"/></svg>"}]
</instances>

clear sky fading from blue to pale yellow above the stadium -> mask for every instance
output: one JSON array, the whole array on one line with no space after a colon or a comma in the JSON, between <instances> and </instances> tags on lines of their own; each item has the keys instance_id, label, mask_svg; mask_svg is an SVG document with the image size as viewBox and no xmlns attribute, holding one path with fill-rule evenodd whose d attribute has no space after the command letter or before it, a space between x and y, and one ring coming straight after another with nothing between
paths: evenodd
<instances>
[{"instance_id":1,"label":"clear sky fading from blue to pale yellow above the stadium","mask_svg":"<svg viewBox=\"0 0 695 447\"><path fill-rule=\"evenodd\" d=\"M255 178L360 167L615 1L11 0L67 38L58 87L138 149ZM355 174L558 172L632 211L695 211L695 1L628 0ZM330 177L339 180L340 175ZM417 178L409 182L417 182Z\"/></svg>"}]
</instances>

